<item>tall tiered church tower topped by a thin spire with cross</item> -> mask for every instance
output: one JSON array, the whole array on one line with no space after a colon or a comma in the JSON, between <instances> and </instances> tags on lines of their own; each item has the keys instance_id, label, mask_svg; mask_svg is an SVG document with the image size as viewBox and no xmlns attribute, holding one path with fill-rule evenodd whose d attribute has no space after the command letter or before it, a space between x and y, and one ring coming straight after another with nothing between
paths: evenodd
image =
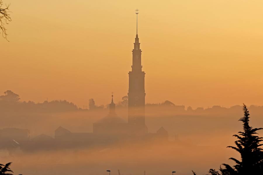
<instances>
[{"instance_id":1,"label":"tall tiered church tower topped by a thin spire with cross","mask_svg":"<svg viewBox=\"0 0 263 175\"><path fill-rule=\"evenodd\" d=\"M132 50L132 66L129 72L128 123L144 130L145 126L145 89L141 65L141 49L138 38L138 10L136 10L136 38ZM145 132L145 130L143 131Z\"/></svg>"}]
</instances>

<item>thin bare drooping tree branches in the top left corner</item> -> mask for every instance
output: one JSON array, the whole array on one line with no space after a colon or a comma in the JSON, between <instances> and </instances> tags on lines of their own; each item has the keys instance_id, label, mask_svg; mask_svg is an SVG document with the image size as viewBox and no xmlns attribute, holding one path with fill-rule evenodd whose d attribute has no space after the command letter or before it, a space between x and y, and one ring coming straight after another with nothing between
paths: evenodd
<instances>
[{"instance_id":1,"label":"thin bare drooping tree branches in the top left corner","mask_svg":"<svg viewBox=\"0 0 263 175\"><path fill-rule=\"evenodd\" d=\"M8 24L8 22L12 21L10 17L10 11L9 11L9 5L6 5L6 8L2 8L3 6L3 1L0 0L0 33L2 31L2 36L6 38L7 33L6 33L6 28L4 24ZM6 38L7 40L7 38ZM7 40L8 41L8 40Z\"/></svg>"}]
</instances>

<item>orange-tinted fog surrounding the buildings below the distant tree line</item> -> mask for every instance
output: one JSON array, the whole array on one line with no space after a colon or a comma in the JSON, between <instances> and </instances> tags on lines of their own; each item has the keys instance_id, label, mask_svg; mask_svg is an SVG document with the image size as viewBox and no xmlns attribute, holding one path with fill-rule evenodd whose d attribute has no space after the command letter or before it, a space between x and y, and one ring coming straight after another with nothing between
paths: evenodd
<instances>
[{"instance_id":1,"label":"orange-tinted fog surrounding the buildings below the distant tree line","mask_svg":"<svg viewBox=\"0 0 263 175\"><path fill-rule=\"evenodd\" d=\"M63 126L72 132L92 132L92 123L100 120L108 110L75 111L66 113L1 113L0 127L30 129L31 138L39 134L54 136L54 130ZM127 120L127 108L117 109ZM169 133L168 143L123 143L99 148L76 148L63 150L34 151L30 153L15 150L11 155L1 150L1 162L14 162L15 173L27 175L44 174L177 174L190 175L191 170L205 174L210 168L218 169L222 163L232 163L229 157L239 155L226 148L233 145L242 125L238 119L242 111L214 111L212 113L179 114L169 108L165 115L160 109L146 108L146 125L149 132L156 132L161 126ZM235 115L233 115L235 113ZM238 115L239 113L239 115ZM263 125L262 111L251 110L251 125ZM262 132L259 134L262 135Z\"/></svg>"}]
</instances>

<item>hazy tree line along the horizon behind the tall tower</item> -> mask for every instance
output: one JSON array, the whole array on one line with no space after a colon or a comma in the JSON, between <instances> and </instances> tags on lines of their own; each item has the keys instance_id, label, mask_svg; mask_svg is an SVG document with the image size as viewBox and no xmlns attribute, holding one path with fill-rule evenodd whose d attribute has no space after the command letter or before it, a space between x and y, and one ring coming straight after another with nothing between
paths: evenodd
<instances>
[{"instance_id":1,"label":"hazy tree line along the horizon behind the tall tower","mask_svg":"<svg viewBox=\"0 0 263 175\"><path fill-rule=\"evenodd\" d=\"M68 111L87 111L87 110L103 110L108 108L107 105L96 105L95 100L93 98L87 100L88 106L83 106L83 108L78 107L76 104L72 102L68 102L67 100L52 100L52 101L44 101L43 103L35 103L34 101L20 101L20 97L18 94L12 92L11 90L7 90L4 92L4 95L0 96L0 112L1 111L28 111L28 112L68 112ZM224 113L224 112L232 112L236 113L242 106L236 105L231 106L230 108L225 108L221 106L212 106L204 109L203 107L199 107L193 109L191 106L188 106L186 109L183 105L176 106L173 102L165 100L162 103L146 103L146 108L155 108L160 111L164 111L169 109L169 111L181 112L182 114L213 114L213 113ZM122 100L116 103L116 108L127 108L128 107L128 96L123 96ZM263 106L255 106L251 105L250 109L256 111L257 113L263 113Z\"/></svg>"}]
</instances>

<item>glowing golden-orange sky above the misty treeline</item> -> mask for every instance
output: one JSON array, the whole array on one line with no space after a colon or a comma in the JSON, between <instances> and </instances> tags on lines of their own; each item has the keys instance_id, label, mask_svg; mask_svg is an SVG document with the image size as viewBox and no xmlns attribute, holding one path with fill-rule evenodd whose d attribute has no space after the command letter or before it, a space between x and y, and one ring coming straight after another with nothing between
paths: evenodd
<instances>
[{"instance_id":1,"label":"glowing golden-orange sky above the misty treeline","mask_svg":"<svg viewBox=\"0 0 263 175\"><path fill-rule=\"evenodd\" d=\"M0 94L66 99L78 106L127 95L138 34L146 103L263 105L263 1L62 1L11 3L0 38Z\"/></svg>"}]
</instances>

